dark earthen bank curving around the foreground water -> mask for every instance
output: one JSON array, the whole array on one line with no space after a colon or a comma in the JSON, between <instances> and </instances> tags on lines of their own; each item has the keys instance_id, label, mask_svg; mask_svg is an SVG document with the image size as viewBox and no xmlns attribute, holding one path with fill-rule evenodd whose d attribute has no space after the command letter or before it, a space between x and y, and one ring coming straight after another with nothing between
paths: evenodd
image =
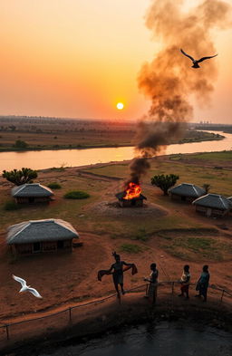
<instances>
[{"instance_id":1,"label":"dark earthen bank curving around the foreground water","mask_svg":"<svg viewBox=\"0 0 232 356\"><path fill-rule=\"evenodd\" d=\"M21 329L20 337L13 333L8 344L5 342L3 345L2 352L18 356L31 356L44 351L50 353L63 346L88 342L102 335L110 336L111 333L123 332L123 329L149 322L179 322L179 327L182 328L188 323L196 324L201 330L207 325L232 332L231 304L218 303L214 298L208 303L202 303L196 298L186 302L177 295L167 299L159 294L156 306L152 307L143 295L129 293L123 297L121 304L113 299L95 305L93 309L91 306L88 310L78 309L78 315L73 315L72 322L63 323L56 318L55 323L49 326L41 320L40 325L37 323L36 326L41 333L33 337L32 329L35 324L21 324L19 327L23 332Z\"/></svg>"}]
</instances>

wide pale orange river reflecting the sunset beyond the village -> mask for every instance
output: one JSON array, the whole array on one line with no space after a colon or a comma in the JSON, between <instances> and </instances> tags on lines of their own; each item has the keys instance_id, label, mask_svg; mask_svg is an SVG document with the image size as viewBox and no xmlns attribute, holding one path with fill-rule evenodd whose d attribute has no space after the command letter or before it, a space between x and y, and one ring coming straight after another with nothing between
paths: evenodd
<instances>
[{"instance_id":1,"label":"wide pale orange river reflecting the sunset beyond the village","mask_svg":"<svg viewBox=\"0 0 232 356\"><path fill-rule=\"evenodd\" d=\"M203 141L169 145L166 154L210 152L232 149L232 134L214 131L225 136L224 140ZM160 153L160 154L163 154ZM134 158L133 147L102 149L59 149L41 151L0 152L0 173L22 167L44 169L53 167L80 167Z\"/></svg>"}]
</instances>

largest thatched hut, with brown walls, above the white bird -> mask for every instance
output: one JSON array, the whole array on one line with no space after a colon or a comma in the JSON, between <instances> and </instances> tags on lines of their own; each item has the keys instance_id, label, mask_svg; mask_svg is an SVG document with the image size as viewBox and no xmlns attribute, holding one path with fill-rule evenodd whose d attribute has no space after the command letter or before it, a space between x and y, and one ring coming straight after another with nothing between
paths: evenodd
<instances>
[{"instance_id":1,"label":"largest thatched hut, with brown walls, above the white bird","mask_svg":"<svg viewBox=\"0 0 232 356\"><path fill-rule=\"evenodd\" d=\"M7 245L14 255L30 255L57 250L72 251L74 227L61 219L24 221L8 227Z\"/></svg>"}]
</instances>

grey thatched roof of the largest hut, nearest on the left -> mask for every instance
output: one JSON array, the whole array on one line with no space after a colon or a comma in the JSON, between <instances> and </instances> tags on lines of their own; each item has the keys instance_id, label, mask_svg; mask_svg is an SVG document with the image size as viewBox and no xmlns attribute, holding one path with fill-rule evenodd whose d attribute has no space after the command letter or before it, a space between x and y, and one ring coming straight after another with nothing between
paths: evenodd
<instances>
[{"instance_id":1,"label":"grey thatched roof of the largest hut, nearest on the left","mask_svg":"<svg viewBox=\"0 0 232 356\"><path fill-rule=\"evenodd\" d=\"M70 240L79 237L74 227L61 219L24 221L8 227L8 245L41 241Z\"/></svg>"}]
</instances>

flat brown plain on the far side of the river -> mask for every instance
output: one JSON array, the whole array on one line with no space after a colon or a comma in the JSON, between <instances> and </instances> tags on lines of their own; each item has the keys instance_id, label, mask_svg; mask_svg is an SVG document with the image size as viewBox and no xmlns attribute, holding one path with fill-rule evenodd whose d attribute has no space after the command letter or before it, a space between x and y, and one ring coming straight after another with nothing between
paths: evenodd
<instances>
[{"instance_id":1,"label":"flat brown plain on the far side of the river","mask_svg":"<svg viewBox=\"0 0 232 356\"><path fill-rule=\"evenodd\" d=\"M101 120L64 120L51 118L0 118L0 151L23 149L71 149L117 147L135 144L136 124ZM217 134L187 130L178 143L221 140ZM177 143L177 142L170 142Z\"/></svg>"}]
</instances>

